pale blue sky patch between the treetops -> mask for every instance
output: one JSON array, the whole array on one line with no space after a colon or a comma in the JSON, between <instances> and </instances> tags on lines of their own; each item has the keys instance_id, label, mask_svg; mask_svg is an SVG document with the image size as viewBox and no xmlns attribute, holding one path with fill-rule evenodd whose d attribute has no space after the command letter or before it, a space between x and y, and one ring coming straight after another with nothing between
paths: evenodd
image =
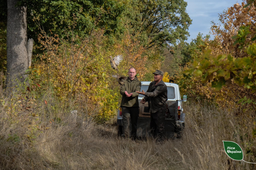
<instances>
[{"instance_id":1,"label":"pale blue sky patch between the treetops","mask_svg":"<svg viewBox=\"0 0 256 170\"><path fill-rule=\"evenodd\" d=\"M191 42L195 39L198 33L203 33L205 36L209 33L211 27L211 21L219 23L219 14L224 10L226 11L228 7L233 6L236 3L241 4L242 0L185 0L188 2L186 11L189 17L193 20L192 24L189 26L188 40L186 42ZM212 38L212 36L211 36Z\"/></svg>"}]
</instances>

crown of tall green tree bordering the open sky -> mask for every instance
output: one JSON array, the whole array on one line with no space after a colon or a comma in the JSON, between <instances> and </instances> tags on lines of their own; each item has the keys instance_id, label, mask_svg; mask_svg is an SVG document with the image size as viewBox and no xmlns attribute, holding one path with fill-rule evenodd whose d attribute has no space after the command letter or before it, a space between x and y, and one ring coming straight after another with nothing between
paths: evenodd
<instances>
[{"instance_id":1,"label":"crown of tall green tree bordering the open sky","mask_svg":"<svg viewBox=\"0 0 256 170\"><path fill-rule=\"evenodd\" d=\"M124 13L134 32L139 31L152 44L176 44L187 39L192 20L186 13L184 0L131 0ZM143 36L144 35L144 36Z\"/></svg>"}]
</instances>

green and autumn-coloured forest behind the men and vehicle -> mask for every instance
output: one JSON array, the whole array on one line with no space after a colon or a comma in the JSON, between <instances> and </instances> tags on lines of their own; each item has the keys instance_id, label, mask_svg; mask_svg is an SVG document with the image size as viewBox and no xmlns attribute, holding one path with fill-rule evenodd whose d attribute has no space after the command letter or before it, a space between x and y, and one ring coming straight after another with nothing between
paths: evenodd
<instances>
[{"instance_id":1,"label":"green and autumn-coloured forest behind the men and vehicle","mask_svg":"<svg viewBox=\"0 0 256 170\"><path fill-rule=\"evenodd\" d=\"M237 129L230 135L245 145L246 156L255 161L254 0L234 4L220 14L220 24L212 22L213 40L199 33L190 43L184 42L191 19L183 0L17 1L17 6L27 8L27 38L34 39L34 46L31 67L21 70L26 76L14 80L12 92L6 86L7 2L0 4L1 126L10 131L0 135L5 143L0 149L7 152L0 156L2 167L12 169L19 164L9 165L22 149L10 148L34 147L47 129L66 126L72 110L83 122L111 122L121 101L112 75L125 76L130 67L137 69L140 81L152 81L152 73L160 69L165 72L163 80L178 84L181 95L188 95L191 103L231 112L237 122L233 126L246 133L241 132L241 139L237 139ZM124 58L119 71L109 63L109 56L118 54ZM202 118L193 120L202 124ZM22 132L17 130L20 127ZM70 140L73 133L67 133ZM61 152L56 147L56 153ZM61 159L62 165L48 159L44 166L68 169L71 163Z\"/></svg>"}]
</instances>

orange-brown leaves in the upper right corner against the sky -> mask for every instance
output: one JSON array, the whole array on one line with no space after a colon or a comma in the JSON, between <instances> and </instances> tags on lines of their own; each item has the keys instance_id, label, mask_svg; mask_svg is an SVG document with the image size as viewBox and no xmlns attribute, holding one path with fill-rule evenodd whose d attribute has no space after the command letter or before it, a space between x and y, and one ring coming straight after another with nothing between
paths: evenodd
<instances>
[{"instance_id":1,"label":"orange-brown leaves in the upper right corner against the sky","mask_svg":"<svg viewBox=\"0 0 256 170\"><path fill-rule=\"evenodd\" d=\"M214 41L219 44L216 47L210 47L214 54L230 53L235 57L247 56L244 52L245 48L241 48L240 44L233 46L235 39L232 38L232 36L237 34L241 26L250 26L249 31L251 34L244 41L246 45L250 44L251 38L256 34L256 26L252 23L256 15L255 6L252 4L251 10L249 10L249 7L243 8L244 6L244 2L242 2L242 5L234 4L233 7L230 7L227 11L219 15L221 25L224 26L224 29L213 22L211 31L215 36Z\"/></svg>"}]
</instances>

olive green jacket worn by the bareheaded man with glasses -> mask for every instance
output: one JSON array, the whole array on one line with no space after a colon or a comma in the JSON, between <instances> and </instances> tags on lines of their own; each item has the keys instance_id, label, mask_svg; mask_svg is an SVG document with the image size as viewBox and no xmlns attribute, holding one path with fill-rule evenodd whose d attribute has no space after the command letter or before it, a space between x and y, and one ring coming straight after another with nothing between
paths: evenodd
<instances>
[{"instance_id":1,"label":"olive green jacket worn by the bareheaded man with glasses","mask_svg":"<svg viewBox=\"0 0 256 170\"><path fill-rule=\"evenodd\" d=\"M138 93L140 91L141 82L135 77L130 80L129 77L124 81L124 85L120 86L120 94L122 95L121 106L126 107L139 107ZM124 92L127 91L128 94L132 93L132 96L126 97Z\"/></svg>"}]
</instances>

